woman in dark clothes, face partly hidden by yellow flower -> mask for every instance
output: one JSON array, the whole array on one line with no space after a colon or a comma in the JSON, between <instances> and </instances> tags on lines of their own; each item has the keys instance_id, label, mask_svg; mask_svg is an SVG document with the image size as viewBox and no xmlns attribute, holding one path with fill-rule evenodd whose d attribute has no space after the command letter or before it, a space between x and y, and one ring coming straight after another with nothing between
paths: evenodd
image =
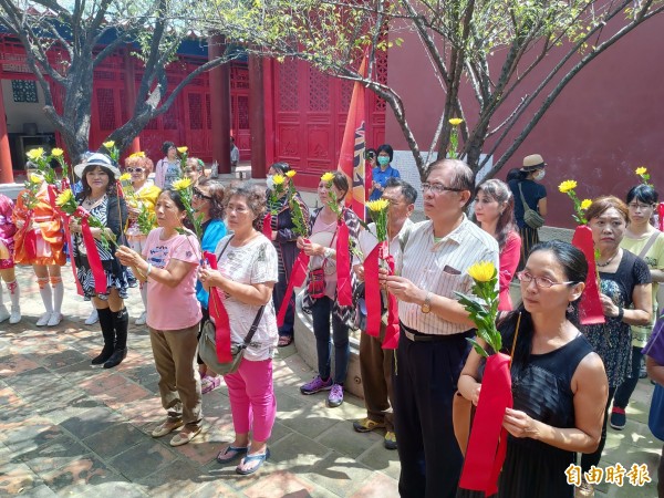
<instances>
[{"instance_id":1,"label":"woman in dark clothes, face partly hidden by yellow flower","mask_svg":"<svg viewBox=\"0 0 664 498\"><path fill-rule=\"evenodd\" d=\"M281 303L288 300L288 310L283 324L279 328L279 347L289 345L293 341L293 326L295 320L295 295L286 295L293 264L300 249L298 249L298 234L295 218L291 203L297 203L303 215L305 229L309 229L309 207L302 201L300 194L291 190L292 177L295 170L288 163L274 163L268 170L268 209L272 212L270 217L272 245L279 257L279 281L274 286L272 300L274 308L281 309ZM277 184L279 181L279 184ZM292 191L292 195L291 195Z\"/></svg>"}]
</instances>

